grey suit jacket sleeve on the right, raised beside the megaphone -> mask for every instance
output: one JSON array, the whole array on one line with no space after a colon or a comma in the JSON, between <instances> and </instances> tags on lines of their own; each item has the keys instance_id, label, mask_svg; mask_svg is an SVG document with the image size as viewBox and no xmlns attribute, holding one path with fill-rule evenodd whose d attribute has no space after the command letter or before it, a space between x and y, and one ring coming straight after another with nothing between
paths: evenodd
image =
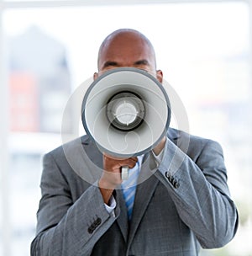
<instances>
[{"instance_id":1,"label":"grey suit jacket sleeve on the right, raised beside the megaphone","mask_svg":"<svg viewBox=\"0 0 252 256\"><path fill-rule=\"evenodd\" d=\"M155 175L202 248L220 248L234 237L238 213L229 195L222 148L216 141L197 142L192 159L167 139Z\"/></svg>"}]
</instances>

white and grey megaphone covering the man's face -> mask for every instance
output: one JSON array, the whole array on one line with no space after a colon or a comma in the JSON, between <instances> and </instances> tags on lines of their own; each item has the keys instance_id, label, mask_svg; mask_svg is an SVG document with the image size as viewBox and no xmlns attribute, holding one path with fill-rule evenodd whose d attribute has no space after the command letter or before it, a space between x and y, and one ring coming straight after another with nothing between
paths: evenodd
<instances>
[{"instance_id":1,"label":"white and grey megaphone covering the man's face","mask_svg":"<svg viewBox=\"0 0 252 256\"><path fill-rule=\"evenodd\" d=\"M87 135L101 152L134 157L150 152L165 136L171 121L165 88L149 72L118 67L90 85L81 105ZM128 167L122 168L122 179Z\"/></svg>"}]
</instances>

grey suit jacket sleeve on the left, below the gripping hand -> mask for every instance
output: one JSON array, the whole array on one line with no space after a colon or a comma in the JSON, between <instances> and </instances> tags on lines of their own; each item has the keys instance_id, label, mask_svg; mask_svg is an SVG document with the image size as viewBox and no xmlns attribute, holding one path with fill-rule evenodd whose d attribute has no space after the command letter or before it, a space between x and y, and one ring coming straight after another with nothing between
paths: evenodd
<instances>
[{"instance_id":1,"label":"grey suit jacket sleeve on the left, below the gripping hand","mask_svg":"<svg viewBox=\"0 0 252 256\"><path fill-rule=\"evenodd\" d=\"M90 255L116 219L106 211L97 184L90 185L74 202L66 177L47 154L40 186L42 197L31 256Z\"/></svg>"}]
</instances>

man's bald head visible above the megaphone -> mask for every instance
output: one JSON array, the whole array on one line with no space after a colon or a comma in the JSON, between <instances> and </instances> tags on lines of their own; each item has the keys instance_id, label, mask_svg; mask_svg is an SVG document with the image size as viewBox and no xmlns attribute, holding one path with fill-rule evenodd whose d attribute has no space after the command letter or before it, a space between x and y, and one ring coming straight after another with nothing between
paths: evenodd
<instances>
[{"instance_id":1,"label":"man's bald head visible above the megaphone","mask_svg":"<svg viewBox=\"0 0 252 256\"><path fill-rule=\"evenodd\" d=\"M155 51L150 40L134 29L118 29L103 40L98 52L98 71L137 67L155 72Z\"/></svg>"}]
</instances>

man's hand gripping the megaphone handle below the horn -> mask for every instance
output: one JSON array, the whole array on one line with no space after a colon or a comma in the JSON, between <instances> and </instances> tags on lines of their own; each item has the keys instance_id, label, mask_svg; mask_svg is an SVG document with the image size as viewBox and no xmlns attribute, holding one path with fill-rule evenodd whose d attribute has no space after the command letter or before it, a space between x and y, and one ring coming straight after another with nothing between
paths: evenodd
<instances>
[{"instance_id":1,"label":"man's hand gripping the megaphone handle below the horn","mask_svg":"<svg viewBox=\"0 0 252 256\"><path fill-rule=\"evenodd\" d=\"M134 168L137 163L137 157L130 158L115 158L108 154L103 154L103 173L99 180L99 188L102 193L102 198L106 204L113 193L113 190L122 183L121 167L128 166Z\"/></svg>"}]
</instances>

